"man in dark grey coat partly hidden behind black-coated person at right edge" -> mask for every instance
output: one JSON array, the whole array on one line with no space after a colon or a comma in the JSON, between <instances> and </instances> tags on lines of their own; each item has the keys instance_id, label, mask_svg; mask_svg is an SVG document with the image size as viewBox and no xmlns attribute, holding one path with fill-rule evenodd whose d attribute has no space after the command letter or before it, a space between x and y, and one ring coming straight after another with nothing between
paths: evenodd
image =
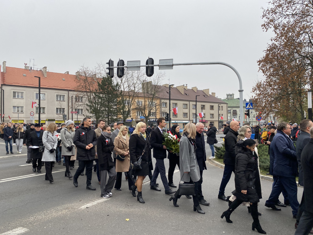
<instances>
[{"instance_id":1,"label":"man in dark grey coat partly hidden behind black-coated person at right edge","mask_svg":"<svg viewBox=\"0 0 313 235\"><path fill-rule=\"evenodd\" d=\"M304 119L300 122L301 133L298 133L297 143L295 145L295 153L297 155L298 168L299 168L299 185L303 186L303 170L301 165L301 153L305 145L310 141L310 128L313 127L313 122L310 119ZM300 217L305 208L304 192L302 194L301 203L298 209L295 227L299 224Z\"/></svg>"}]
</instances>

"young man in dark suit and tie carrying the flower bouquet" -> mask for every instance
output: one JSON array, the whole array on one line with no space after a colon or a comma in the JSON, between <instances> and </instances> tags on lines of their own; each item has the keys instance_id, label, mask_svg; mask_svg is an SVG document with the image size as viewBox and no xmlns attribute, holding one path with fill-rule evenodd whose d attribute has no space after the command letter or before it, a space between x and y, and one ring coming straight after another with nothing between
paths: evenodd
<instances>
[{"instance_id":1,"label":"young man in dark suit and tie carrying the flower bouquet","mask_svg":"<svg viewBox=\"0 0 313 235\"><path fill-rule=\"evenodd\" d=\"M162 144L164 138L162 136L163 128L166 127L165 118L158 118L157 119L158 126L151 132L150 137L150 145L153 148L153 157L156 159L156 165L153 171L152 179L151 179L151 186L150 189L161 191L161 189L156 186L156 179L161 175L161 180L164 185L165 194L172 194L176 191L173 191L169 186L166 178L166 170L164 165L164 159L166 158L166 146Z\"/></svg>"}]
</instances>

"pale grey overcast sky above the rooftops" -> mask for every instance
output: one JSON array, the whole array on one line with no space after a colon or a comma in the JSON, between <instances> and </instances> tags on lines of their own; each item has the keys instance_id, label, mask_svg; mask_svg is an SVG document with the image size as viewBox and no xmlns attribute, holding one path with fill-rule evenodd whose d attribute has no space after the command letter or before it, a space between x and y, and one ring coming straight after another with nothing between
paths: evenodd
<instances>
[{"instance_id":1,"label":"pale grey overcast sky above the rooftops","mask_svg":"<svg viewBox=\"0 0 313 235\"><path fill-rule=\"evenodd\" d=\"M222 61L235 67L251 97L262 78L257 60L271 32L261 28L265 0L199 1L8 1L0 0L1 53L7 66L70 74L110 58L148 57L174 63ZM33 62L32 62L33 63ZM32 64L31 64L32 65ZM158 68L155 67L155 72ZM210 89L219 98L239 97L236 74L224 65L174 66L164 83ZM116 70L115 70L116 72Z\"/></svg>"}]
</instances>

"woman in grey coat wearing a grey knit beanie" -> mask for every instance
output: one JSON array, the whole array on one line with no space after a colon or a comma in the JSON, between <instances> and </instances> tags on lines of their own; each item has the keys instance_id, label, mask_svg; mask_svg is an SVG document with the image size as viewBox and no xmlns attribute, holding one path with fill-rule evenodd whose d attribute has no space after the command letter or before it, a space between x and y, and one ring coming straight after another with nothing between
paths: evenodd
<instances>
[{"instance_id":1,"label":"woman in grey coat wearing a grey knit beanie","mask_svg":"<svg viewBox=\"0 0 313 235\"><path fill-rule=\"evenodd\" d=\"M72 178L72 174L69 171L69 162L71 156L75 155L75 145L73 144L73 138L75 134L74 123L71 120L65 122L67 127L62 128L60 135L62 140L62 155L65 159L65 177Z\"/></svg>"}]
</instances>

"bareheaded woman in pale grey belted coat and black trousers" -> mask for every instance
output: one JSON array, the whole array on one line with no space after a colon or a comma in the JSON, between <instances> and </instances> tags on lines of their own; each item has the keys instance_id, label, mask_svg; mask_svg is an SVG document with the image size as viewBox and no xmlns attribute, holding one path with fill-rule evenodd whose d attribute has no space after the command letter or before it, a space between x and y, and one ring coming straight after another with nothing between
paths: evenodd
<instances>
[{"instance_id":1,"label":"bareheaded woman in pale grey belted coat and black trousers","mask_svg":"<svg viewBox=\"0 0 313 235\"><path fill-rule=\"evenodd\" d=\"M46 176L45 180L53 182L52 177L52 164L55 161L55 149L57 148L58 138L56 136L57 124L50 123L42 136L42 142L44 144L44 154L42 155L42 161L45 162Z\"/></svg>"}]
</instances>

